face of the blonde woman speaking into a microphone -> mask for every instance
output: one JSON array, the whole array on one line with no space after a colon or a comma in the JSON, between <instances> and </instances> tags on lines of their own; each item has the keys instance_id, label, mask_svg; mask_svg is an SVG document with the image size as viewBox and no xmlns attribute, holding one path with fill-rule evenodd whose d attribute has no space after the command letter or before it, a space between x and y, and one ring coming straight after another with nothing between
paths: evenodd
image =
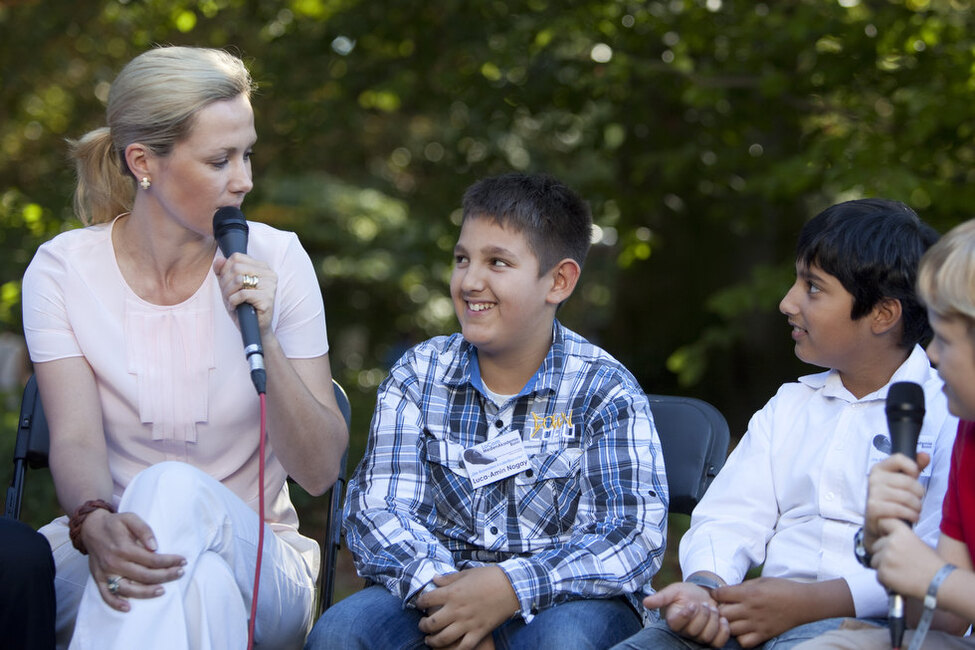
<instances>
[{"instance_id":1,"label":"face of the blonde woman speaking into a microphone","mask_svg":"<svg viewBox=\"0 0 975 650\"><path fill-rule=\"evenodd\" d=\"M239 207L253 187L256 141L254 111L244 95L213 102L197 113L189 135L169 155L148 154L148 192L169 219L211 235L217 208Z\"/></svg>"}]
</instances>

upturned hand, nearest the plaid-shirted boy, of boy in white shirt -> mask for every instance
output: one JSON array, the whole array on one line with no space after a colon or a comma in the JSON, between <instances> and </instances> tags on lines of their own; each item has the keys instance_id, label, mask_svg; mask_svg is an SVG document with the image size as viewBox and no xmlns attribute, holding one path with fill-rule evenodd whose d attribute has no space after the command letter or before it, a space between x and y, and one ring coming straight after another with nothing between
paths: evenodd
<instances>
[{"instance_id":1,"label":"upturned hand, nearest the plaid-shirted boy, of boy in white shirt","mask_svg":"<svg viewBox=\"0 0 975 650\"><path fill-rule=\"evenodd\" d=\"M643 599L647 609L664 609L667 625L681 636L720 648L731 633L728 621L704 587L675 582Z\"/></svg>"}]
</instances>

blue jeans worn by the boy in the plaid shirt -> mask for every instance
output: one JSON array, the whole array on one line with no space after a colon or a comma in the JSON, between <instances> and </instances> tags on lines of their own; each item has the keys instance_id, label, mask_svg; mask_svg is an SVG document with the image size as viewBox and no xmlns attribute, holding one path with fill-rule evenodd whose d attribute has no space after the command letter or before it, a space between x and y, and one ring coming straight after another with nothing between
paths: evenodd
<instances>
[{"instance_id":1,"label":"blue jeans worn by the boy in the plaid shirt","mask_svg":"<svg viewBox=\"0 0 975 650\"><path fill-rule=\"evenodd\" d=\"M329 607L315 623L305 650L426 648L418 625L423 613L404 609L385 587L373 585ZM520 616L494 630L498 650L608 648L640 629L623 598L573 600L540 611L530 624Z\"/></svg>"}]
</instances>

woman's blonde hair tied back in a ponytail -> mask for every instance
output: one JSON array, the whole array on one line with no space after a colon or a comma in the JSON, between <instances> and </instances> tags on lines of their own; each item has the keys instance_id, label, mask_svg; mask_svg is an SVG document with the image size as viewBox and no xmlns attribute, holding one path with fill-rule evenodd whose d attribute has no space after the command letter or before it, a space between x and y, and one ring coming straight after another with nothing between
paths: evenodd
<instances>
[{"instance_id":1,"label":"woman's blonde hair tied back in a ponytail","mask_svg":"<svg viewBox=\"0 0 975 650\"><path fill-rule=\"evenodd\" d=\"M169 46L132 59L109 91L108 126L69 141L78 218L102 223L132 208L137 179L125 162L127 146L138 142L166 156L201 109L241 94L249 99L254 88L243 61L223 50Z\"/></svg>"}]
</instances>

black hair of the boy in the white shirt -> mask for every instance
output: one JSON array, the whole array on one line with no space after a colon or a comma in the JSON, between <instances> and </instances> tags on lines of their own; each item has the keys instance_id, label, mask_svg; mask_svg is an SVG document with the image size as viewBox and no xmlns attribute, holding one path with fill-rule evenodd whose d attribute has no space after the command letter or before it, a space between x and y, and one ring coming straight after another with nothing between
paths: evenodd
<instances>
[{"instance_id":1,"label":"black hair of the boy in the white shirt","mask_svg":"<svg viewBox=\"0 0 975 650\"><path fill-rule=\"evenodd\" d=\"M858 199L826 208L799 233L796 259L816 264L853 295L850 318L858 320L881 300L901 303L900 345L911 348L931 336L915 292L918 264L938 233L903 203Z\"/></svg>"}]
</instances>

